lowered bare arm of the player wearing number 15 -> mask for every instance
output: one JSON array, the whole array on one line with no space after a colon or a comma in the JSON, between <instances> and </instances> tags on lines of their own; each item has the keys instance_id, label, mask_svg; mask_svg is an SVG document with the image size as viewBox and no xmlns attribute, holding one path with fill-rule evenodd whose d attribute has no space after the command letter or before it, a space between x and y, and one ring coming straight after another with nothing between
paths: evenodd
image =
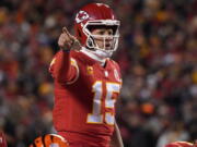
<instances>
[{"instance_id":1,"label":"lowered bare arm of the player wearing number 15","mask_svg":"<svg viewBox=\"0 0 197 147\"><path fill-rule=\"evenodd\" d=\"M119 127L115 121L111 147L124 147Z\"/></svg>"}]
</instances>

